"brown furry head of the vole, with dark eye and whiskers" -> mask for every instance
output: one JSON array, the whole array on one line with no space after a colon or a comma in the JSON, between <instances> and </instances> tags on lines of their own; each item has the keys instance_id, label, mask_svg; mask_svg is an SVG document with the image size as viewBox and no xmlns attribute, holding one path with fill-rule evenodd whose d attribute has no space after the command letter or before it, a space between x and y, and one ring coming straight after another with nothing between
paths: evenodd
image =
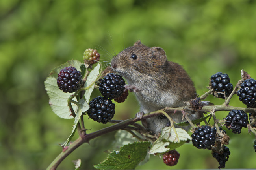
<instances>
[{"instance_id":1,"label":"brown furry head of the vole, with dark eye and whiskers","mask_svg":"<svg viewBox=\"0 0 256 170\"><path fill-rule=\"evenodd\" d=\"M111 61L111 67L127 79L158 72L167 61L160 47L147 47L140 40L121 51Z\"/></svg>"}]
</instances>

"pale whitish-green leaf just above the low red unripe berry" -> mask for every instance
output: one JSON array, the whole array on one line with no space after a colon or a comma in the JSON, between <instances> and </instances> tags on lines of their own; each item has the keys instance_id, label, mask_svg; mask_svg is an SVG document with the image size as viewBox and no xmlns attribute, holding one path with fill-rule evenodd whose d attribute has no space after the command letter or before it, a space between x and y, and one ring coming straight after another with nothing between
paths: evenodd
<instances>
[{"instance_id":1,"label":"pale whitish-green leaf just above the low red unripe berry","mask_svg":"<svg viewBox=\"0 0 256 170\"><path fill-rule=\"evenodd\" d=\"M174 128L174 126L164 127L160 137L154 142L149 153L155 155L163 154L180 147L188 139L191 139L191 137L182 128Z\"/></svg>"}]
</instances>

